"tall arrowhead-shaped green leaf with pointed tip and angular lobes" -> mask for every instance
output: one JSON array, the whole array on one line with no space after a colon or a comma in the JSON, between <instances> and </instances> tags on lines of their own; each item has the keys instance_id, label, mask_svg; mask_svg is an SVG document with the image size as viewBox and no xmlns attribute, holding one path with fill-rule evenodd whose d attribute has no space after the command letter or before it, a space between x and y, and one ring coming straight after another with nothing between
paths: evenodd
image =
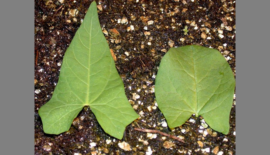
<instances>
[{"instance_id":1,"label":"tall arrowhead-shaped green leaf with pointed tip and angular lobes","mask_svg":"<svg viewBox=\"0 0 270 155\"><path fill-rule=\"evenodd\" d=\"M89 106L104 131L118 139L139 115L129 104L100 27L96 2L66 50L52 98L39 109L48 134L68 131L73 119Z\"/></svg>"}]
</instances>

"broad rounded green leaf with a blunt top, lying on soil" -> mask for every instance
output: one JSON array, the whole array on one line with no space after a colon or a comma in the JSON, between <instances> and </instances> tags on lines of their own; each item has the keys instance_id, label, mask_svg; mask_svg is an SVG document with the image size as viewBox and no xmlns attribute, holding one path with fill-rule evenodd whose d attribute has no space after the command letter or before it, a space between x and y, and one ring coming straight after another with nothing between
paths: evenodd
<instances>
[{"instance_id":1,"label":"broad rounded green leaf with a blunt top, lying on soil","mask_svg":"<svg viewBox=\"0 0 270 155\"><path fill-rule=\"evenodd\" d=\"M234 88L230 65L218 50L189 45L171 48L164 55L155 95L170 128L195 114L212 129L228 134Z\"/></svg>"}]
</instances>

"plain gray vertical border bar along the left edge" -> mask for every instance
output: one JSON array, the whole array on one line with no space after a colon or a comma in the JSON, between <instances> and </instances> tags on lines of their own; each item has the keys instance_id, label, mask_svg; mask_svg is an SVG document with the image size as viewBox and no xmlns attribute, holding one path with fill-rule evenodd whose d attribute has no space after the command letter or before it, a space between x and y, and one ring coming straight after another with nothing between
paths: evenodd
<instances>
[{"instance_id":1,"label":"plain gray vertical border bar along the left edge","mask_svg":"<svg viewBox=\"0 0 270 155\"><path fill-rule=\"evenodd\" d=\"M34 1L1 1L0 20L0 154L32 154Z\"/></svg>"}]
</instances>

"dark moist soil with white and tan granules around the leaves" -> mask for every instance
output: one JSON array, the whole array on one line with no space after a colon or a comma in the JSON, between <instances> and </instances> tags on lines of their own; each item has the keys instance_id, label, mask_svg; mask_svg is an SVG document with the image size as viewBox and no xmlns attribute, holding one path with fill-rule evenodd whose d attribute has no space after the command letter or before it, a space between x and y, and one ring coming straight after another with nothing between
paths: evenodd
<instances>
[{"instance_id":1,"label":"dark moist soil with white and tan granules around the leaves","mask_svg":"<svg viewBox=\"0 0 270 155\"><path fill-rule=\"evenodd\" d=\"M96 1L100 25L116 55L127 98L140 118L126 127L122 140L106 134L89 107L79 113L69 131L59 135L43 132L38 109L52 96L65 51L91 2L35 1L35 154L235 154L235 99L230 132L224 135L195 116L169 129L163 114L155 108L154 96L158 66L170 47L201 45L217 49L235 74L235 1ZM185 26L187 35L182 31ZM108 33L110 29L116 29L119 35ZM134 128L158 130L185 143L161 134L149 137L151 134ZM122 142L131 150L120 148Z\"/></svg>"}]
</instances>

